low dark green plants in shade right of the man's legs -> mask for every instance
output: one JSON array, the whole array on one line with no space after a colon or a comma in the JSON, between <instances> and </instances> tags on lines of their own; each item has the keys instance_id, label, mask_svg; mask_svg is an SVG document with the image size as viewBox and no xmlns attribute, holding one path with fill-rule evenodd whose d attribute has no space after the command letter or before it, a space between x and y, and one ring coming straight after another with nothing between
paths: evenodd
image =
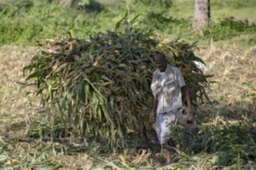
<instances>
[{"instance_id":1,"label":"low dark green plants in shade right of the man's legs","mask_svg":"<svg viewBox=\"0 0 256 170\"><path fill-rule=\"evenodd\" d=\"M213 116L212 126L201 126L200 135L177 132L174 140L177 142L177 152L180 152L181 156L179 161L189 160L186 166L191 166L193 161L203 161L201 156L207 156L206 164L210 164L210 167L221 168L230 165L241 169L255 167L255 127L247 122L232 125L224 121L224 116ZM181 167L181 165L172 167Z\"/></svg>"}]
</instances>

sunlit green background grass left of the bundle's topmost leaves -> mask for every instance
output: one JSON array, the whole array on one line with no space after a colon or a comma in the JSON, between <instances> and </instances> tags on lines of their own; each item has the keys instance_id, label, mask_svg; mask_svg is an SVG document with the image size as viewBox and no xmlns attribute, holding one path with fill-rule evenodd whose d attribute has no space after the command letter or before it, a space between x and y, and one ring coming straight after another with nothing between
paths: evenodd
<instances>
[{"instance_id":1,"label":"sunlit green background grass left of the bundle's topmost leaves","mask_svg":"<svg viewBox=\"0 0 256 170\"><path fill-rule=\"evenodd\" d=\"M72 34L73 37L88 37L94 31L108 28L108 20L87 13L83 9L65 8L58 3L7 3L1 11L0 42L20 44L35 43L38 38ZM102 12L104 14L104 12ZM111 23L111 22L110 22ZM98 30L100 28L100 30Z\"/></svg>"}]
</instances>

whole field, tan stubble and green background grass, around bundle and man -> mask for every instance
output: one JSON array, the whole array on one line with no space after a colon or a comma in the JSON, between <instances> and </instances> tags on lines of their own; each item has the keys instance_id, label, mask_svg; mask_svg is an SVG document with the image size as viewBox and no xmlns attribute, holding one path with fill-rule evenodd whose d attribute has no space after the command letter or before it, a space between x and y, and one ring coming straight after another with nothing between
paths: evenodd
<instances>
[{"instance_id":1,"label":"whole field, tan stubble and green background grass, around bundle and man","mask_svg":"<svg viewBox=\"0 0 256 170\"><path fill-rule=\"evenodd\" d=\"M43 7L40 11L37 3L30 9L20 8L18 14L13 11L19 4L5 14L1 9L0 168L255 169L256 2L227 0L220 3L212 0L212 26L203 35L190 33L194 6L191 0L173 1L170 8L159 4L155 8L143 3L113 1L117 4L113 5L112 1L97 2L102 3L104 9L96 13L68 9L68 14L60 4ZM215 83L208 92L212 102L201 104L196 109L200 131L195 144L200 149L177 147L179 154L168 167L161 167L163 153L159 148L149 150L138 142L143 135L127 141L129 147L114 153L96 142L81 144L79 139L41 138L47 129L61 127L50 127L45 122L46 111L38 99L26 97L32 88L24 86L26 77L22 69L37 52L38 38L65 36L68 32L73 37L88 38L96 31L113 30L114 24L124 16L125 9L137 11L137 8L143 16L136 26L154 29L166 41L177 37L189 42L198 41L200 50L195 54L207 64L205 73L214 74L211 80ZM150 13L152 11L154 13ZM46 15L48 20L44 18ZM66 20L61 20L62 16ZM231 16L234 19L226 19ZM12 31L7 29L9 26L12 26ZM151 142L159 147L157 141Z\"/></svg>"}]
</instances>

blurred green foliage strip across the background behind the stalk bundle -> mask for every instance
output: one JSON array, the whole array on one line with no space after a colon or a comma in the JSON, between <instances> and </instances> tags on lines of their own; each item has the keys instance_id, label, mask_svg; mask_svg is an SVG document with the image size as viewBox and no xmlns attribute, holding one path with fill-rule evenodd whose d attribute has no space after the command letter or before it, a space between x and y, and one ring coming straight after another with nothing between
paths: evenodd
<instances>
[{"instance_id":1,"label":"blurred green foliage strip across the background behind the stalk bundle","mask_svg":"<svg viewBox=\"0 0 256 170\"><path fill-rule=\"evenodd\" d=\"M236 14L241 7L240 13L242 10L253 11L255 1L212 0L211 5L211 26L201 35L194 35L191 33L193 1L76 0L72 8L67 8L64 0L5 0L0 1L0 43L35 44L41 38L67 34L88 38L98 31L113 30L126 11L134 16L142 14L137 22L138 27L189 41L200 38L218 41L255 32L253 17L247 16L248 13L239 14L239 17ZM255 37L252 37L247 43L255 41Z\"/></svg>"}]
</instances>

